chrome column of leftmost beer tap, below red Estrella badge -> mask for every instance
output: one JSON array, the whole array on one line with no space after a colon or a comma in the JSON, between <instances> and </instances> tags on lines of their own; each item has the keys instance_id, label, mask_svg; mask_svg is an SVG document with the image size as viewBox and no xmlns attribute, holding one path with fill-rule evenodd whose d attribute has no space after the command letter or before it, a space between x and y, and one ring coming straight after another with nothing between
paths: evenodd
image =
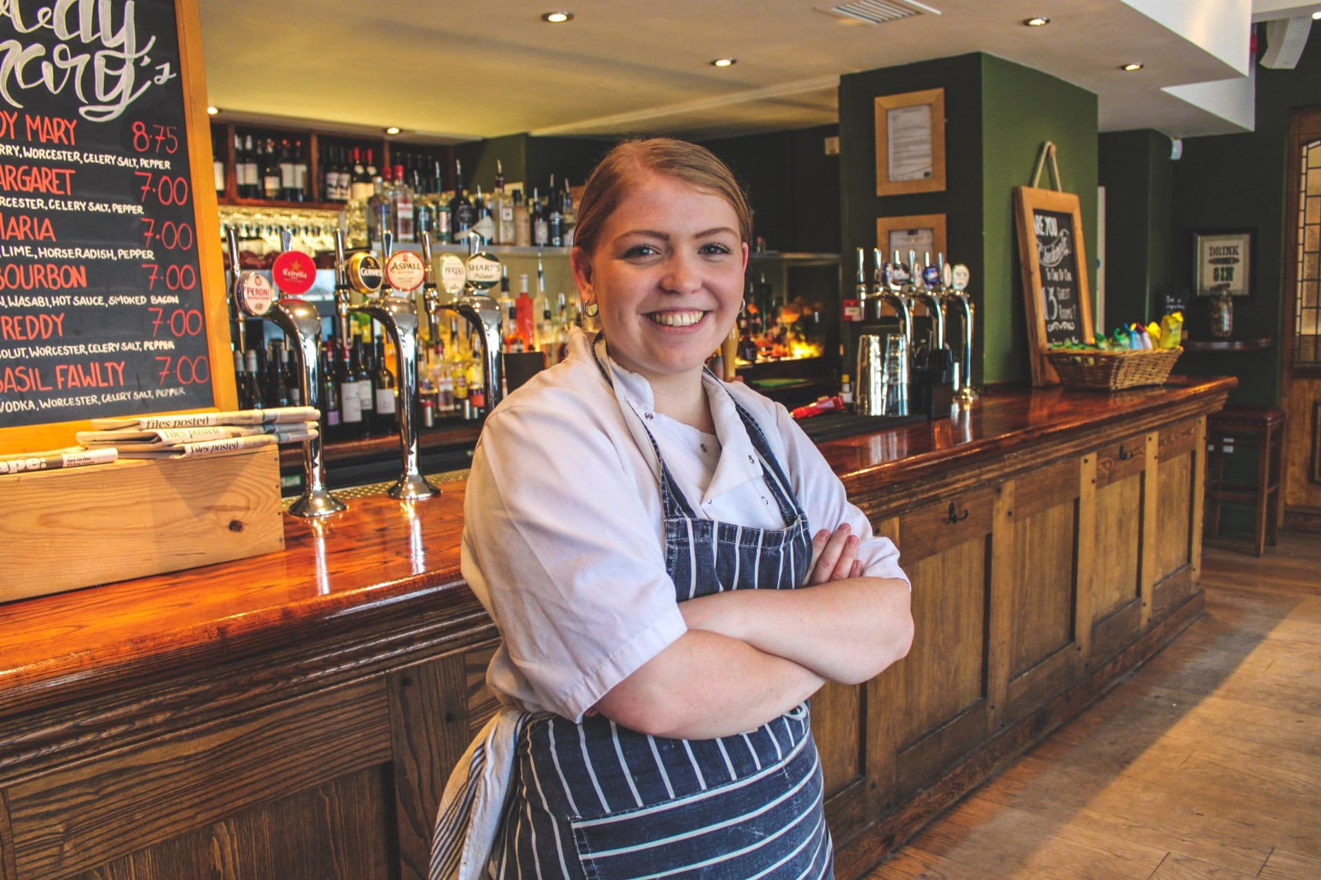
<instances>
[{"instance_id":1,"label":"chrome column of leftmost beer tap, below red Estrella badge","mask_svg":"<svg viewBox=\"0 0 1321 880\"><path fill-rule=\"evenodd\" d=\"M288 230L280 231L280 244L289 249L293 236ZM321 313L310 302L297 297L281 296L271 306L266 318L284 331L284 338L293 340L293 358L299 364L299 391L303 404L318 412L325 406L321 398ZM325 459L321 454L324 442L321 431L326 420L321 418L317 435L303 441L303 495L289 505L289 513L297 517L322 517L346 509L343 501L330 495L325 483Z\"/></svg>"}]
</instances>

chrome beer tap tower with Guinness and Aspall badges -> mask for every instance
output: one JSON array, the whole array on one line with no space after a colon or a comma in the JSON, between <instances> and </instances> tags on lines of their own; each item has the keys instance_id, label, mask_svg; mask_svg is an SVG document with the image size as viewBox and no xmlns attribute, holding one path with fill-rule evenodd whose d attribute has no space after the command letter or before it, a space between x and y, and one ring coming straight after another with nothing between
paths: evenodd
<instances>
[{"instance_id":1,"label":"chrome beer tap tower with Guinness and Aspall badges","mask_svg":"<svg viewBox=\"0 0 1321 880\"><path fill-rule=\"evenodd\" d=\"M336 311L338 314L341 336L347 330L349 313L366 314L386 329L395 343L395 365L398 367L399 389L399 450L403 458L403 472L386 489L386 495L402 501L419 501L437 495L440 489L432 486L421 474L419 453L420 413L417 402L417 306L411 296L396 297L383 284L383 265L394 249L394 235L388 231L380 236L383 260L371 255L345 264L343 234L336 231ZM358 255L354 255L355 257ZM373 265L374 264L374 265ZM350 285L366 297L362 305L350 305Z\"/></svg>"}]
</instances>

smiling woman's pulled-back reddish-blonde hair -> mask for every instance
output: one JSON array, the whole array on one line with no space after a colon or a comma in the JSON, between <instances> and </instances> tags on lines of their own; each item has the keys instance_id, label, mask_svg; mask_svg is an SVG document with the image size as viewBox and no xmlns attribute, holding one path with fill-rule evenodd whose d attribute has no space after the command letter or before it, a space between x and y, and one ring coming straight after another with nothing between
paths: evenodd
<instances>
[{"instance_id":1,"label":"smiling woman's pulled-back reddish-blonde hair","mask_svg":"<svg viewBox=\"0 0 1321 880\"><path fill-rule=\"evenodd\" d=\"M738 218L741 239L752 239L752 208L733 172L705 146L672 137L650 137L616 144L592 172L579 199L573 247L592 253L605 220L647 173L668 174L721 197Z\"/></svg>"}]
</instances>

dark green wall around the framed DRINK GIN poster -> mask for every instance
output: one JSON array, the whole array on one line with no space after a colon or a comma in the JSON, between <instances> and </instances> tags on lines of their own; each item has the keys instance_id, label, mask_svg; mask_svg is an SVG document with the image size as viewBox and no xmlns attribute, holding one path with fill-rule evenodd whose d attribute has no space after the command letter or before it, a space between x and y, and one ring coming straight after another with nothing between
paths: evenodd
<instances>
[{"instance_id":1,"label":"dark green wall around the framed DRINK GIN poster","mask_svg":"<svg viewBox=\"0 0 1321 880\"><path fill-rule=\"evenodd\" d=\"M1321 37L1312 38L1293 70L1256 69L1256 129L1243 135L1189 137L1184 158L1174 162L1173 251L1180 284L1192 286L1193 232L1251 228L1256 231L1256 294L1234 303L1234 335L1271 336L1269 351L1234 356L1185 354L1177 372L1234 375L1239 387L1232 404L1280 401L1284 327L1284 224L1289 116L1296 107L1321 104ZM1259 45L1266 49L1264 34ZM1205 307L1189 315L1194 332L1203 332Z\"/></svg>"}]
</instances>

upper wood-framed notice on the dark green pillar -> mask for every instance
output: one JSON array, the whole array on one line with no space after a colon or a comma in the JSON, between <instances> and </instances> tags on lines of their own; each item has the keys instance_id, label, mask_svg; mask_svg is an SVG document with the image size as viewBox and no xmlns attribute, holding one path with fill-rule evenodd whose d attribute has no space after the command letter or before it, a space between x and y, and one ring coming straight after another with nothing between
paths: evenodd
<instances>
[{"instance_id":1,"label":"upper wood-framed notice on the dark green pillar","mask_svg":"<svg viewBox=\"0 0 1321 880\"><path fill-rule=\"evenodd\" d=\"M945 190L945 90L876 99L876 194Z\"/></svg>"}]
</instances>

